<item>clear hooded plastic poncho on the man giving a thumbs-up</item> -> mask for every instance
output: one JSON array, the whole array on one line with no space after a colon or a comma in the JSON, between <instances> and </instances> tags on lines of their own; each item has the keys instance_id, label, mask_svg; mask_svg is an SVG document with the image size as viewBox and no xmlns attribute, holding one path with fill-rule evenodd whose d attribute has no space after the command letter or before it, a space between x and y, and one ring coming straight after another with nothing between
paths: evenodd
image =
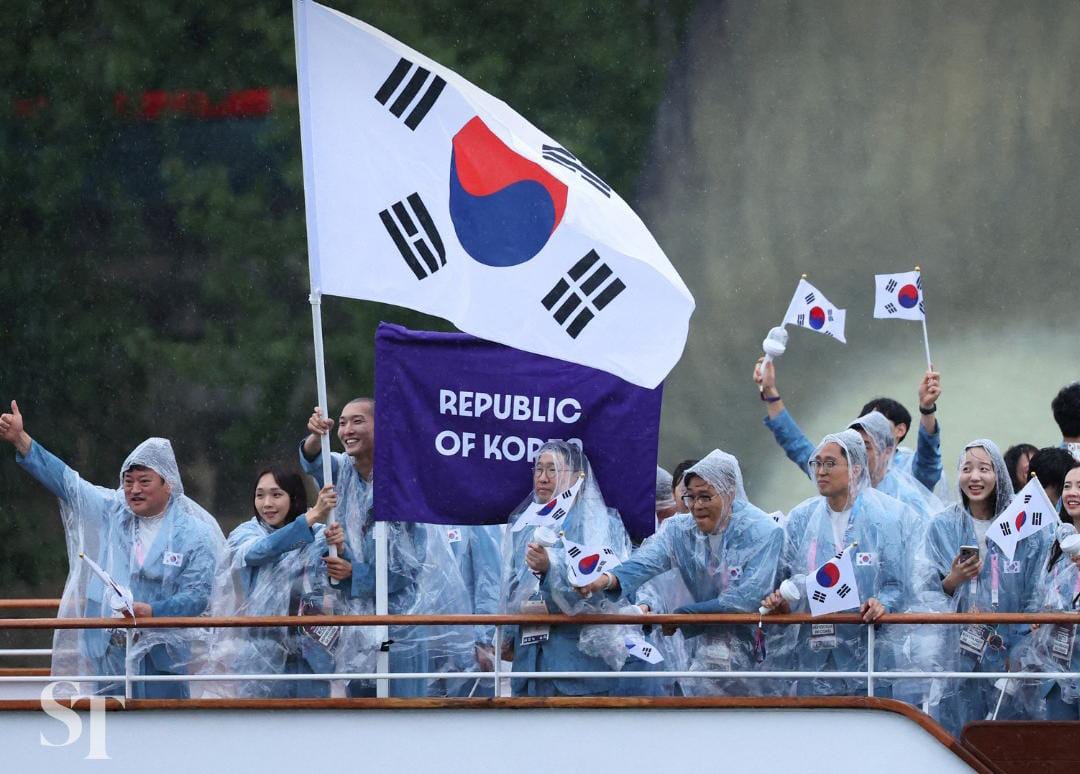
<instances>
[{"instance_id":1,"label":"clear hooded plastic poncho on the man giving a thumbs-up","mask_svg":"<svg viewBox=\"0 0 1080 774\"><path fill-rule=\"evenodd\" d=\"M123 489L123 474L135 465L156 472L171 489L164 513L152 517L160 521L154 525L152 543L144 546L141 563L135 546L146 530L141 518L127 506ZM62 475L58 497L70 569L59 617L112 614L111 592L79 558L80 552L130 588L135 601L149 603L156 616L206 613L225 537L214 517L184 493L167 439L147 438L139 444L124 460L116 489L94 486L66 465ZM138 629L129 651L124 629L60 629L53 639L52 669L54 675L123 675L125 667L136 675L193 674L202 669L205 658L203 639L202 629ZM145 664L145 660L150 663ZM122 694L123 685L98 684L91 691ZM134 690L136 697L183 697L187 693L183 683L135 683Z\"/></svg>"}]
</instances>

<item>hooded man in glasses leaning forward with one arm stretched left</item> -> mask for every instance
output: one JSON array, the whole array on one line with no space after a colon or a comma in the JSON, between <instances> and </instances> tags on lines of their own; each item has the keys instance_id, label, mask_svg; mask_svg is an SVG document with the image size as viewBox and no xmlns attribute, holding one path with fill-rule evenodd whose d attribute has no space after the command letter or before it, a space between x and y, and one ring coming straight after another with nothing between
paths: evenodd
<instances>
[{"instance_id":1,"label":"hooded man in glasses leaning forward with one arm stretched left","mask_svg":"<svg viewBox=\"0 0 1080 774\"><path fill-rule=\"evenodd\" d=\"M731 454L711 451L686 472L683 485L690 513L672 516L629 561L581 593L633 598L650 579L674 569L693 601L671 612L757 610L761 597L773 588L784 531L746 499L739 462ZM693 671L751 671L765 660L764 635L754 625L681 629ZM753 680L680 680L679 685L686 695L750 695L769 690L764 682Z\"/></svg>"}]
</instances>

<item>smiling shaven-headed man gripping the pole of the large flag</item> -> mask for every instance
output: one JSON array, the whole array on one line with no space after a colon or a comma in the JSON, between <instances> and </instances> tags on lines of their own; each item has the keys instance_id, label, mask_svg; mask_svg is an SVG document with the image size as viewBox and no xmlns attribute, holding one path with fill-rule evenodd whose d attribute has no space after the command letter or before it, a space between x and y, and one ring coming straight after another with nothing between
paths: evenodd
<instances>
[{"instance_id":1,"label":"smiling shaven-headed man gripping the pole of the large flag","mask_svg":"<svg viewBox=\"0 0 1080 774\"><path fill-rule=\"evenodd\" d=\"M323 486L322 432L334 427L321 409L308 420L310 434L300 444L300 465ZM375 613L375 402L362 397L341 409L338 439L346 453L332 453L337 491L337 526L325 531L326 541L342 555L327 558L330 578L342 589L342 609L351 615ZM469 613L471 600L445 529L403 521L387 522L387 589L389 612L394 615ZM459 671L474 657L474 630L465 626L390 627L390 671ZM374 627L341 630L336 647L337 671L374 673L380 643ZM445 689L442 689L445 691ZM350 696L375 695L372 681L351 681ZM436 691L438 692L438 691ZM424 696L428 681L409 678L390 681L392 696Z\"/></svg>"}]
</instances>

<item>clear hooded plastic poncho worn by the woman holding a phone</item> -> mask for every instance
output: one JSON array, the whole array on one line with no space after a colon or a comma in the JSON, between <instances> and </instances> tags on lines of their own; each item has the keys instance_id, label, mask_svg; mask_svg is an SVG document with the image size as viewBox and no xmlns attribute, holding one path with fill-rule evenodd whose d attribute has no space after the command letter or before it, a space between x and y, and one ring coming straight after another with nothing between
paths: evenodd
<instances>
[{"instance_id":1,"label":"clear hooded plastic poncho worn by the woman holding a phone","mask_svg":"<svg viewBox=\"0 0 1080 774\"><path fill-rule=\"evenodd\" d=\"M1013 499L1012 479L1000 449L993 440L981 438L964 447L957 464L959 471L970 449L982 449L989 457L995 472L996 518ZM960 584L953 596L942 588L961 545L978 545L974 519L964 495L931 520L922 542L918 566L922 587L919 602L923 609L941 612L1034 612L1039 608L1038 586L1047 553L1053 541L1053 530L1042 530L1016 544L1013 560L994 541L986 541L986 556L976 579ZM918 649L921 667L944 671L1005 671L1011 650L1021 646L1028 626L971 624L967 626L934 625L922 627L923 643ZM932 642L932 647L930 644ZM982 643L982 644L980 644ZM954 733L969 720L982 720L993 709L997 691L987 680L935 680L929 709L945 728Z\"/></svg>"}]
</instances>

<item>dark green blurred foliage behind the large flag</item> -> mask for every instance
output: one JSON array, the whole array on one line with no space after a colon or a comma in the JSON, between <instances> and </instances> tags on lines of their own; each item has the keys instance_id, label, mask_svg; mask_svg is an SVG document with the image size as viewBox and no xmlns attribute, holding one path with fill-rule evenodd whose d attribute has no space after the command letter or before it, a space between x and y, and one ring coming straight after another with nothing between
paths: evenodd
<instances>
[{"instance_id":1,"label":"dark green blurred foliage behind the large flag","mask_svg":"<svg viewBox=\"0 0 1080 774\"><path fill-rule=\"evenodd\" d=\"M503 98L624 195L692 2L334 2ZM252 471L292 460L314 403L288 2L0 9L0 400L95 483L172 438L228 530ZM151 90L274 90L262 119L147 121ZM332 409L373 391L378 320L324 300ZM56 593L55 503L0 462L0 587Z\"/></svg>"}]
</instances>

